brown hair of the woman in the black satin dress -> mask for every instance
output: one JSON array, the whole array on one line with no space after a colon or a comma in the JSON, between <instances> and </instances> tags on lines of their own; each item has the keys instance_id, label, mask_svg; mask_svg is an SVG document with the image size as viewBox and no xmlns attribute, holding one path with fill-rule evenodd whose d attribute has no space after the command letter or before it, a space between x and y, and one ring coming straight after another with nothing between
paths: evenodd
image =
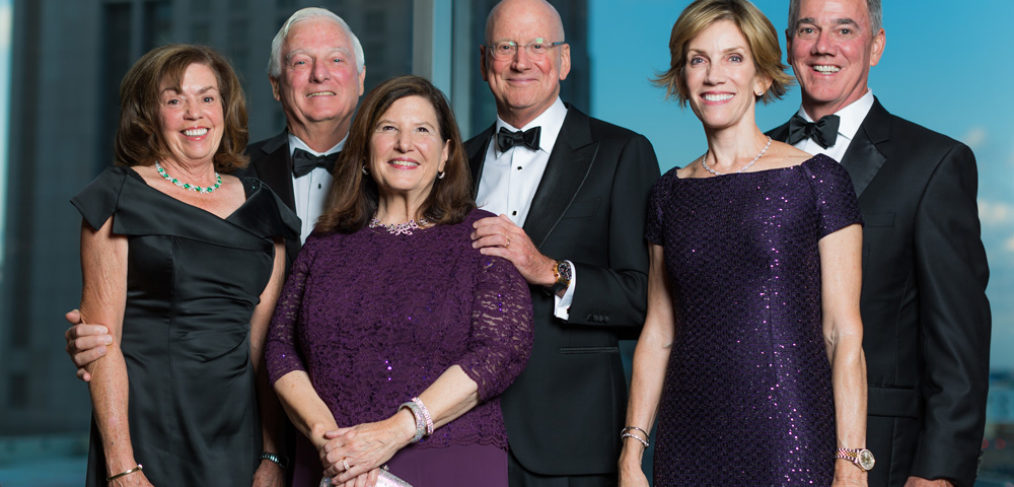
<instances>
[{"instance_id":1,"label":"brown hair of the woman in the black satin dress","mask_svg":"<svg viewBox=\"0 0 1014 487\"><path fill-rule=\"evenodd\" d=\"M118 165L148 165L169 155L162 135L158 108L160 88L169 83L179 88L192 64L211 68L222 97L222 142L215 151L215 170L231 172L246 165L243 155L246 131L246 99L236 73L222 55L206 46L172 44L149 51L134 63L120 83L120 127L114 143Z\"/></svg>"}]
</instances>

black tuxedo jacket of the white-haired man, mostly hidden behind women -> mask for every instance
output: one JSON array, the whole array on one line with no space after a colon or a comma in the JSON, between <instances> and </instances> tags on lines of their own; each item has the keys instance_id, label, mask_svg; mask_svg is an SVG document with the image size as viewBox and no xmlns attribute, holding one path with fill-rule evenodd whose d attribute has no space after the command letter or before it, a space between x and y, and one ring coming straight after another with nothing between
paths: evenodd
<instances>
[{"instance_id":1,"label":"black tuxedo jacket of the white-haired man, mostly hidden behind women","mask_svg":"<svg viewBox=\"0 0 1014 487\"><path fill-rule=\"evenodd\" d=\"M246 155L249 156L250 163L238 173L265 182L295 213L296 200L292 190L292 157L289 155L288 131L282 131L274 137L247 145ZM285 241L286 275L300 247L302 246L298 237Z\"/></svg>"}]
</instances>

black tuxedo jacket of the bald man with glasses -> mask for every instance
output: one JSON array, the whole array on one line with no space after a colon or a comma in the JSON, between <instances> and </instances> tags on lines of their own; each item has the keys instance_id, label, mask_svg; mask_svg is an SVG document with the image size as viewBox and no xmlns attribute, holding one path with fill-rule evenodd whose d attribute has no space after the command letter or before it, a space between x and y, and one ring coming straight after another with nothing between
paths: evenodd
<instances>
[{"instance_id":1,"label":"black tuxedo jacket of the bald man with glasses","mask_svg":"<svg viewBox=\"0 0 1014 487\"><path fill-rule=\"evenodd\" d=\"M493 127L465 143L474 181ZM524 372L501 397L511 451L530 472L615 472L627 384L617 348L644 322L648 193L658 179L651 143L569 108L524 230L542 254L574 263L570 319L531 288L535 341Z\"/></svg>"}]
</instances>

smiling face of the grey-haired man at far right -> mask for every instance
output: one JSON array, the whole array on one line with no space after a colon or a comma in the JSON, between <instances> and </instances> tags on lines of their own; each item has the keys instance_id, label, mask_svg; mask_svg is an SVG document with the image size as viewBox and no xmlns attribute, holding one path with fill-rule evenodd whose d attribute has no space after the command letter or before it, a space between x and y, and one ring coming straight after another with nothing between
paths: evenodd
<instances>
[{"instance_id":1,"label":"smiling face of the grey-haired man at far right","mask_svg":"<svg viewBox=\"0 0 1014 487\"><path fill-rule=\"evenodd\" d=\"M802 0L787 38L789 63L814 119L834 114L867 91L870 67L884 49L884 31L870 29L866 0Z\"/></svg>"}]
</instances>

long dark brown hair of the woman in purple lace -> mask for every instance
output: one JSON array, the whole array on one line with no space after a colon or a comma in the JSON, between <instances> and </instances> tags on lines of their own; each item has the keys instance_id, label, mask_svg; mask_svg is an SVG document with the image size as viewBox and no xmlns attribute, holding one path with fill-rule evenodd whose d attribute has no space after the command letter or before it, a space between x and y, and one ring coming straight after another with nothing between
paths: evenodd
<instances>
[{"instance_id":1,"label":"long dark brown hair of the woman in purple lace","mask_svg":"<svg viewBox=\"0 0 1014 487\"><path fill-rule=\"evenodd\" d=\"M351 233L366 226L376 213L380 198L377 184L363 170L372 157L370 140L380 117L394 101L406 96L422 96L433 106L440 138L449 145L444 177L433 184L420 209L422 216L434 223L459 223L476 207L464 145L447 98L426 78L397 76L380 83L363 99L349 131L349 140L335 165L328 205L314 231Z\"/></svg>"}]
</instances>

